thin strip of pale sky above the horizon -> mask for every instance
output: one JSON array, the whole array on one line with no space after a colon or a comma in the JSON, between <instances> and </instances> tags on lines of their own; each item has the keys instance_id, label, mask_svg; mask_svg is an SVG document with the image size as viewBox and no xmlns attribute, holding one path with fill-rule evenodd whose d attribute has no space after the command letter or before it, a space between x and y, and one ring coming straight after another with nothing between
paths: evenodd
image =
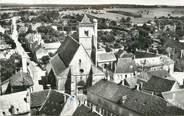
<instances>
[{"instance_id":1,"label":"thin strip of pale sky above the horizon","mask_svg":"<svg viewBox=\"0 0 184 116\"><path fill-rule=\"evenodd\" d=\"M138 4L184 6L184 0L0 0L0 3L23 4Z\"/></svg>"}]
</instances>

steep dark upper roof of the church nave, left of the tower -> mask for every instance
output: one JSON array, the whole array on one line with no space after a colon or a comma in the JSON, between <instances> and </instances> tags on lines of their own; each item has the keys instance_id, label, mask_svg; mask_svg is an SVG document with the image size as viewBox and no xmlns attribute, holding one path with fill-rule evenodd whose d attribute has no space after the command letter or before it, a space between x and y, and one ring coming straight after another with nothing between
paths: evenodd
<instances>
[{"instance_id":1,"label":"steep dark upper roof of the church nave, left of the tower","mask_svg":"<svg viewBox=\"0 0 184 116\"><path fill-rule=\"evenodd\" d=\"M58 55L65 64L65 66L69 66L72 58L77 52L80 44L74 40L72 37L66 37L63 44L58 48Z\"/></svg>"}]
</instances>

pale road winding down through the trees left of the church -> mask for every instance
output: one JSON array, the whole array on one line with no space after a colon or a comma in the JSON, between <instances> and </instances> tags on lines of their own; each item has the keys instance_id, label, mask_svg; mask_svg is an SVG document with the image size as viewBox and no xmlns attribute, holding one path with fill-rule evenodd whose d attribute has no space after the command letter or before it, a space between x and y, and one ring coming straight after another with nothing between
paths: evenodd
<instances>
[{"instance_id":1,"label":"pale road winding down through the trees left of the church","mask_svg":"<svg viewBox=\"0 0 184 116\"><path fill-rule=\"evenodd\" d=\"M22 47L21 43L18 41L18 32L17 32L17 24L16 24L17 17L12 18L12 25L13 25L13 33L12 33L12 39L14 40L16 44L16 51L18 54L20 54L23 57L29 58L28 54ZM43 86L39 85L38 80L41 80L41 76L45 76L45 71L40 69L40 67L37 66L37 64L30 59L27 60L29 63L28 70L30 72L31 77L33 78L34 86L33 91L41 91L43 90Z\"/></svg>"}]
</instances>

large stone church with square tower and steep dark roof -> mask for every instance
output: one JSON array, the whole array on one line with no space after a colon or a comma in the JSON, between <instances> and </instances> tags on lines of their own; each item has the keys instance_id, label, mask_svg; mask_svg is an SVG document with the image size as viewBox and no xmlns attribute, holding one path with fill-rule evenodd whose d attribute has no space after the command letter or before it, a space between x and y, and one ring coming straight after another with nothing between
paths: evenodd
<instances>
[{"instance_id":1,"label":"large stone church with square tower and steep dark roof","mask_svg":"<svg viewBox=\"0 0 184 116\"><path fill-rule=\"evenodd\" d=\"M50 59L47 76L52 89L72 95L85 94L88 87L105 78L97 67L97 20L91 21L84 15L78 33L78 41L66 37Z\"/></svg>"}]
</instances>

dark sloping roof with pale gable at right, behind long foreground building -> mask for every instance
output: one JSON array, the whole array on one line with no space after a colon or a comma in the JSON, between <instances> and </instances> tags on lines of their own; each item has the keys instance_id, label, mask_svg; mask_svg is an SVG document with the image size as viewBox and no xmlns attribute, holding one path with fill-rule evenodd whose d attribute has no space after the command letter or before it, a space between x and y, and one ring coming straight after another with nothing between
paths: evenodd
<instances>
[{"instance_id":1,"label":"dark sloping roof with pale gable at right, behind long foreground building","mask_svg":"<svg viewBox=\"0 0 184 116\"><path fill-rule=\"evenodd\" d=\"M147 82L138 80L138 83L139 82L143 82L143 90L154 92L170 91L175 83L173 80L163 79L156 76L152 76Z\"/></svg>"}]
</instances>

